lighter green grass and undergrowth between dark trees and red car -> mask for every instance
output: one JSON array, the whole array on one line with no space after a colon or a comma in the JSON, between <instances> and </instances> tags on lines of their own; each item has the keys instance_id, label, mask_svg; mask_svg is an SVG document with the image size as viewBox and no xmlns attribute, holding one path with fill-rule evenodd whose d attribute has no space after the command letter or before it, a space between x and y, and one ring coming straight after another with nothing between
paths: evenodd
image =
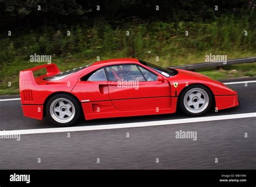
<instances>
[{"instance_id":1,"label":"lighter green grass and undergrowth between dark trees and red car","mask_svg":"<svg viewBox=\"0 0 256 187\"><path fill-rule=\"evenodd\" d=\"M52 55L52 61L57 61L64 69L96 61L97 56L101 60L138 57L161 66L203 62L209 53L226 54L228 59L248 54L255 56L255 28L256 22L252 18L237 19L232 15L209 23L133 20L113 27L104 19L95 19L93 25L52 27L45 24L11 37L0 35L0 89L6 88L12 77L15 80L12 91L17 92L19 70L35 66L29 62L34 53ZM156 56L159 56L159 62Z\"/></svg>"}]
</instances>

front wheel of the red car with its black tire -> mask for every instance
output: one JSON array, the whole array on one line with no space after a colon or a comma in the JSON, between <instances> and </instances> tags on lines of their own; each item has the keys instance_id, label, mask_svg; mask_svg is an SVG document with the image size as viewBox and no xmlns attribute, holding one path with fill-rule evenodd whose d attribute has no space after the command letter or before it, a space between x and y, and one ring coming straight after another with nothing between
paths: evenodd
<instances>
[{"instance_id":1,"label":"front wheel of the red car with its black tire","mask_svg":"<svg viewBox=\"0 0 256 187\"><path fill-rule=\"evenodd\" d=\"M201 95L200 99L207 99L207 96L208 96L208 102L205 102L205 103L208 103L208 104L205 104L205 105L204 104L202 104L202 105L198 104L198 106L199 106L198 110L197 110L196 107L195 107L195 109L193 109L194 105L189 106L190 104L186 104L186 103L189 103L188 100L190 100L190 97L188 97L188 96L189 96L190 92L191 92L192 95L195 96L195 97L193 97L193 98L195 98L194 100L197 101L198 97L196 98L196 95L194 94L194 93L197 93L197 92L193 92L194 90L198 90L199 93L200 93L200 91L204 90L204 91L202 91L203 96ZM205 93L207 94L207 96L205 95ZM184 100L184 97L186 97L185 100ZM198 99L198 101L199 101L199 99ZM187 88L185 88L181 92L181 95L179 96L178 102L179 102L178 104L179 104L179 108L181 109L181 111L183 111L188 116L201 116L202 114L208 112L208 110L211 109L211 106L212 106L212 103L213 103L213 96L212 96L211 91L208 88L206 88L204 85L192 84L192 85L188 86ZM192 100L191 100L191 102L192 102ZM195 102L195 103L197 103L197 102Z\"/></svg>"}]
</instances>

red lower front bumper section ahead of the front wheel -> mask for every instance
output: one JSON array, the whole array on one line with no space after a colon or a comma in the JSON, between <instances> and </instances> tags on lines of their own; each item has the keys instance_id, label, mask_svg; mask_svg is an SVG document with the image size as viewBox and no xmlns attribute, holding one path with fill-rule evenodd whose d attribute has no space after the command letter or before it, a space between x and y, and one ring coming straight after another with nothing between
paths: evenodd
<instances>
[{"instance_id":1,"label":"red lower front bumper section ahead of the front wheel","mask_svg":"<svg viewBox=\"0 0 256 187\"><path fill-rule=\"evenodd\" d=\"M228 109L228 108L239 105L237 94L227 95L227 96L214 96L214 97L215 97L216 107L218 110Z\"/></svg>"}]
</instances>

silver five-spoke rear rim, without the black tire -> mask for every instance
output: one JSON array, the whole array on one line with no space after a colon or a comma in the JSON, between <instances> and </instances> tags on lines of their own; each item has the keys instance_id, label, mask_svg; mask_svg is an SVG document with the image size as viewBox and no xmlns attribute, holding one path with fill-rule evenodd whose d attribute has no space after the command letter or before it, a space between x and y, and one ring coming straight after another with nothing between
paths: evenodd
<instances>
[{"instance_id":1,"label":"silver five-spoke rear rim, without the black tire","mask_svg":"<svg viewBox=\"0 0 256 187\"><path fill-rule=\"evenodd\" d=\"M66 98L57 98L50 105L51 117L58 123L68 123L75 117L75 106Z\"/></svg>"}]
</instances>

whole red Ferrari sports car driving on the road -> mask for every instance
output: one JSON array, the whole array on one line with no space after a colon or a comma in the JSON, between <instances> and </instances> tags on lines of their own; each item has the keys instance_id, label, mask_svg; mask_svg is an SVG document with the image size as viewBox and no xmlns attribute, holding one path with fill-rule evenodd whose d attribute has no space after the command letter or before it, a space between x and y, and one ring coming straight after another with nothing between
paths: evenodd
<instances>
[{"instance_id":1,"label":"whole red Ferrari sports car driving on the road","mask_svg":"<svg viewBox=\"0 0 256 187\"><path fill-rule=\"evenodd\" d=\"M46 68L35 78L33 71ZM56 64L22 70L19 89L24 116L58 126L86 120L176 112L199 116L237 106L237 91L204 75L166 69L138 59L110 59L60 72Z\"/></svg>"}]
</instances>

